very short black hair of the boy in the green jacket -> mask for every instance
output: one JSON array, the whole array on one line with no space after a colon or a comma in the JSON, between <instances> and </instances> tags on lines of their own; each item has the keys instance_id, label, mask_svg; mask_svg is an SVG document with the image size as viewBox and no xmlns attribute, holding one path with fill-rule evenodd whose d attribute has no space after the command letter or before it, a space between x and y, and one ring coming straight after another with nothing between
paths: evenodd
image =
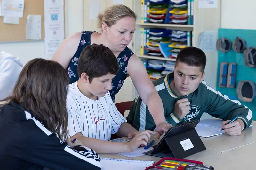
<instances>
[{"instance_id":1,"label":"very short black hair of the boy in the green jacket","mask_svg":"<svg viewBox=\"0 0 256 170\"><path fill-rule=\"evenodd\" d=\"M176 64L182 62L188 66L200 67L200 70L203 73L206 65L206 55L199 48L192 46L186 47L180 50L175 62Z\"/></svg>"}]
</instances>

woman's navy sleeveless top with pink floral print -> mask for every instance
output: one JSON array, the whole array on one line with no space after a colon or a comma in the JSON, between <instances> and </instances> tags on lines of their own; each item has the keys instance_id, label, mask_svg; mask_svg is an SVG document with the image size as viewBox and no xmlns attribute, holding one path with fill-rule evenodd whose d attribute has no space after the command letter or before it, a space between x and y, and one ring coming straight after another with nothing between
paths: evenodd
<instances>
[{"instance_id":1,"label":"woman's navy sleeveless top with pink floral print","mask_svg":"<svg viewBox=\"0 0 256 170\"><path fill-rule=\"evenodd\" d=\"M86 46L89 46L91 44L91 34L92 34L92 31L82 31L82 36L81 36L79 46L67 68L70 83L76 82L79 78L77 74L78 60L82 50ZM119 71L114 77L114 79L112 80L112 90L109 91L113 101L115 101L115 95L121 89L121 87L123 86L124 80L127 77L127 65L132 55L133 55L132 50L126 47L124 51L122 51L117 57L117 61L119 63Z\"/></svg>"}]
</instances>

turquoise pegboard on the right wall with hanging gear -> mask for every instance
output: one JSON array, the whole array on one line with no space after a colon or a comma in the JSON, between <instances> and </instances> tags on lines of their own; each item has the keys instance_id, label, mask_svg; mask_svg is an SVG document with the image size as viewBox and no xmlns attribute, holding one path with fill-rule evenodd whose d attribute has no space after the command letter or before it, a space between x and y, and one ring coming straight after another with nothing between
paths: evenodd
<instances>
[{"instance_id":1,"label":"turquoise pegboard on the right wall with hanging gear","mask_svg":"<svg viewBox=\"0 0 256 170\"><path fill-rule=\"evenodd\" d=\"M236 37L244 39L249 47L256 47L256 30L238 30L238 29L219 29L219 39L224 36L234 42ZM244 53L236 53L233 48L225 54L218 51L218 71L217 71L217 90L222 94L227 95L230 99L237 99L235 88L219 87L220 63L221 62L235 62L237 64L236 70L236 87L241 80L251 80L256 83L256 67L248 67L245 65ZM252 110L252 114L256 113L256 98L252 102L242 102ZM256 120L256 117L253 117Z\"/></svg>"}]
</instances>

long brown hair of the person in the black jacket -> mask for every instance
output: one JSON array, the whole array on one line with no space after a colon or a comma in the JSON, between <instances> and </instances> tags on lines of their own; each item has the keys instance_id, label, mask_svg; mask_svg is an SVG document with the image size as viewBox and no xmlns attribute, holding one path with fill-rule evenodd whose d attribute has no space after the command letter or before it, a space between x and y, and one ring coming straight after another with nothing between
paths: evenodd
<instances>
[{"instance_id":1,"label":"long brown hair of the person in the black jacket","mask_svg":"<svg viewBox=\"0 0 256 170\"><path fill-rule=\"evenodd\" d=\"M66 141L68 84L67 71L59 63L36 58L23 67L9 99Z\"/></svg>"}]
</instances>

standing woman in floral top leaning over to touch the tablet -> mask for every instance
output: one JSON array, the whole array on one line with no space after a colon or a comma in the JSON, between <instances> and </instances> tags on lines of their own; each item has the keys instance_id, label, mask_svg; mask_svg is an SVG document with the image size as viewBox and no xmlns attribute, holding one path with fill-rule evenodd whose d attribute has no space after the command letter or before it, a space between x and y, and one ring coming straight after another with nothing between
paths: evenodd
<instances>
[{"instance_id":1,"label":"standing woman in floral top leaning over to touch the tablet","mask_svg":"<svg viewBox=\"0 0 256 170\"><path fill-rule=\"evenodd\" d=\"M90 44L103 44L116 56L119 71L112 80L109 91L115 101L116 93L121 89L124 80L130 76L142 101L148 106L156 124L157 138L167 131L171 124L164 118L163 103L148 78L146 68L139 57L127 46L135 32L135 13L125 5L112 5L104 13L98 15L98 27L102 33L82 31L76 32L65 39L52 57L68 71L70 83L78 80L77 64L82 50ZM144 128L144 129L143 129ZM141 127L141 131L145 127Z\"/></svg>"}]
</instances>

